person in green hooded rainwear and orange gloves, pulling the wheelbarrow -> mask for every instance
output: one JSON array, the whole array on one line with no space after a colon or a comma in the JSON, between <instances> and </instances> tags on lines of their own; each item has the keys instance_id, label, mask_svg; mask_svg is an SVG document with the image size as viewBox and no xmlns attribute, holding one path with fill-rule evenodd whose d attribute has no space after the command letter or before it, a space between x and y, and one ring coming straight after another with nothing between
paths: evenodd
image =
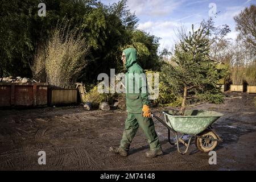
<instances>
[{"instance_id":1,"label":"person in green hooded rainwear and orange gloves, pulling the wheelbarrow","mask_svg":"<svg viewBox=\"0 0 256 182\"><path fill-rule=\"evenodd\" d=\"M114 154L127 156L131 141L140 126L150 145L150 151L146 152L146 157L154 158L162 155L162 147L160 146L158 135L155 132L154 122L151 118L146 75L137 63L136 49L125 49L122 53L122 61L127 69L126 108L128 114L121 144L118 148L110 147L110 151L114 152Z\"/></svg>"}]
</instances>

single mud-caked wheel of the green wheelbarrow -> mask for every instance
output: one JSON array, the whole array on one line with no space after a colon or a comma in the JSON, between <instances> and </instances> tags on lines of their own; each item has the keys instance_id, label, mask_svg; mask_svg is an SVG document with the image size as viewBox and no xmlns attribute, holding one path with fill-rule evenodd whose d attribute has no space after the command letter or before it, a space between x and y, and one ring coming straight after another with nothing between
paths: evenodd
<instances>
[{"instance_id":1,"label":"single mud-caked wheel of the green wheelbarrow","mask_svg":"<svg viewBox=\"0 0 256 182\"><path fill-rule=\"evenodd\" d=\"M200 137L217 139L217 136L210 130L204 131L202 134L200 134ZM214 150L217 144L218 142L216 140L207 140L199 137L196 138L196 147L202 152L210 152Z\"/></svg>"}]
</instances>

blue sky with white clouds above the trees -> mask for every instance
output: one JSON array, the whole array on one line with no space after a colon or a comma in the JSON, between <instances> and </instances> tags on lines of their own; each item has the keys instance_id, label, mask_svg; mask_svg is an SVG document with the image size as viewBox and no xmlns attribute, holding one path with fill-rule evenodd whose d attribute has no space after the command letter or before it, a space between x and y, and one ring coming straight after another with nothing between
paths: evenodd
<instances>
[{"instance_id":1,"label":"blue sky with white clouds above the trees","mask_svg":"<svg viewBox=\"0 0 256 182\"><path fill-rule=\"evenodd\" d=\"M110 5L118 0L101 0ZM139 18L138 29L158 36L160 49L172 49L177 40L176 30L181 24L189 31L191 25L211 16L216 26L228 24L227 38L236 40L236 22L233 17L256 0L127 0L127 6ZM217 15L215 14L217 13Z\"/></svg>"}]
</instances>

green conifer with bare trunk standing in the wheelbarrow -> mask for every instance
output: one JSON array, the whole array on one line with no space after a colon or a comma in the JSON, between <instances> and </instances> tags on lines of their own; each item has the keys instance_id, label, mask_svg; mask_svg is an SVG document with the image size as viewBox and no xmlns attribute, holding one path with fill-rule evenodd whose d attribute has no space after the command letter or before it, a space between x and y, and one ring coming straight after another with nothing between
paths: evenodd
<instances>
[{"instance_id":1,"label":"green conifer with bare trunk standing in the wheelbarrow","mask_svg":"<svg viewBox=\"0 0 256 182\"><path fill-rule=\"evenodd\" d=\"M182 97L180 114L185 105L192 102L213 102L220 104L223 96L218 81L224 72L210 59L209 31L201 26L185 35L175 46L171 63L163 67L164 84L174 89L176 97Z\"/></svg>"}]
</instances>

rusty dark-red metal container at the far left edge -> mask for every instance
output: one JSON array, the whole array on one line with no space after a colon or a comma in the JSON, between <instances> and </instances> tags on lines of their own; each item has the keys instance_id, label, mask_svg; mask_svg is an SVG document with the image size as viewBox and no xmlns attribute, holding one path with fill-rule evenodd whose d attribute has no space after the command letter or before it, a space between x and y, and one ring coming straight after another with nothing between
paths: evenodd
<instances>
[{"instance_id":1,"label":"rusty dark-red metal container at the far left edge","mask_svg":"<svg viewBox=\"0 0 256 182\"><path fill-rule=\"evenodd\" d=\"M0 107L47 106L46 83L0 82Z\"/></svg>"}]
</instances>

